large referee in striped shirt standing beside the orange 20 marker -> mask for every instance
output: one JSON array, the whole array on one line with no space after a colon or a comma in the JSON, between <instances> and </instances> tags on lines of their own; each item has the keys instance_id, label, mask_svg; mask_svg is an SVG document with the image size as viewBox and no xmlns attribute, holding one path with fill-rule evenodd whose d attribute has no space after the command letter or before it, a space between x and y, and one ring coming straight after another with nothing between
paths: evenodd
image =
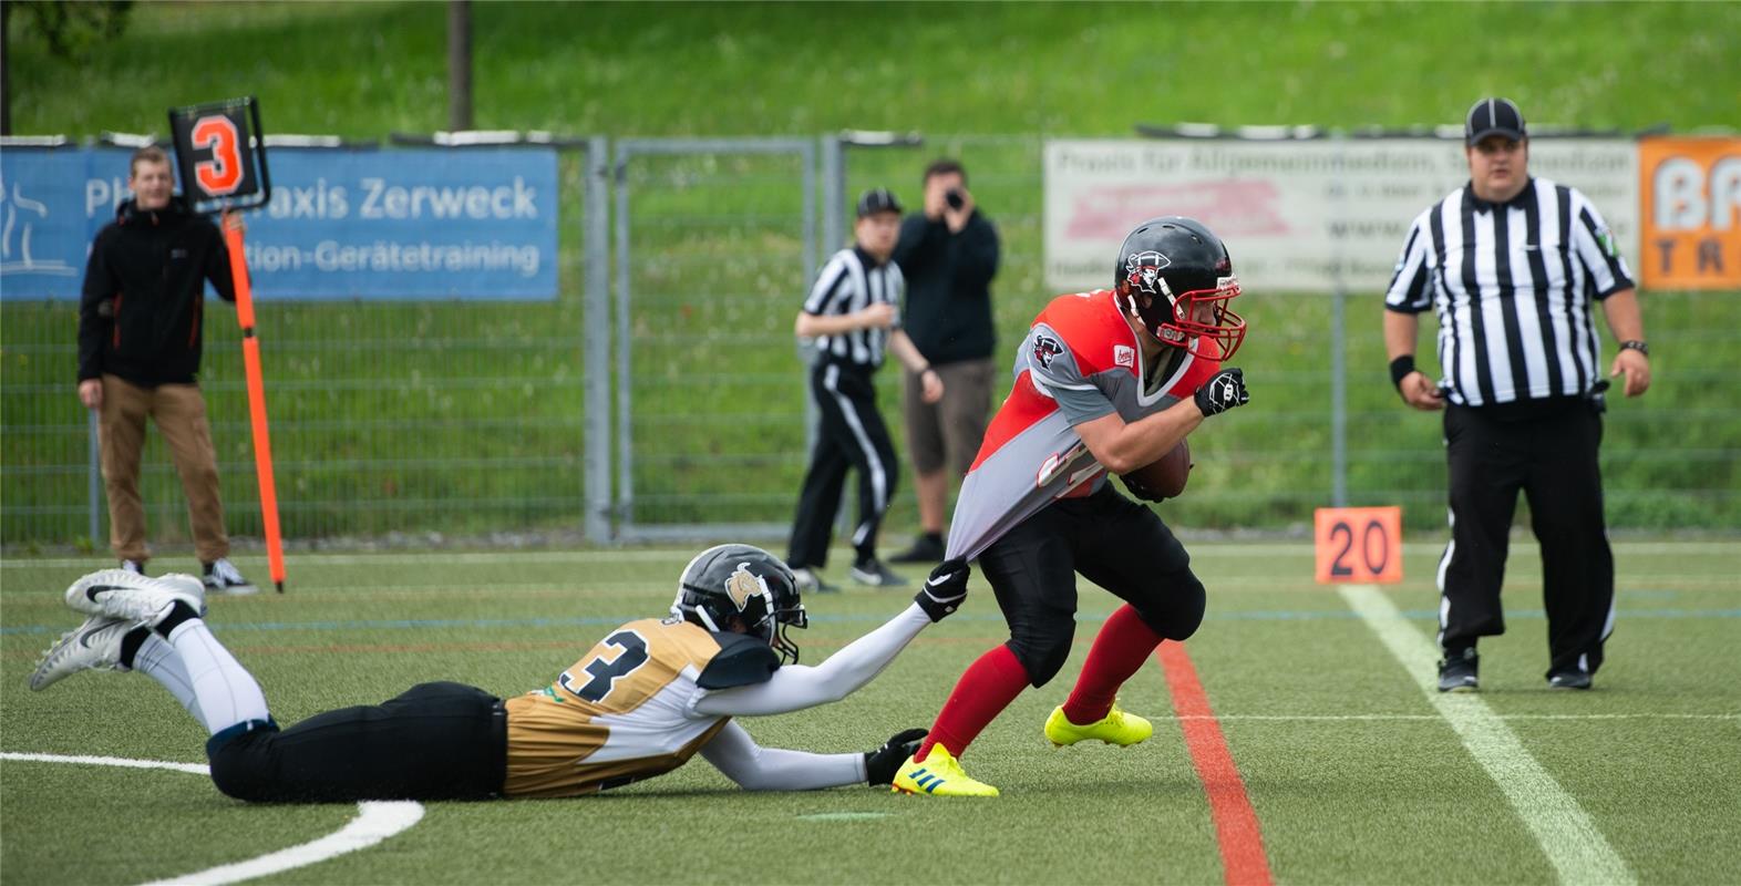
<instances>
[{"instance_id":1,"label":"large referee in striped shirt standing beside the orange 20 marker","mask_svg":"<svg viewBox=\"0 0 1741 886\"><path fill-rule=\"evenodd\" d=\"M1541 543L1548 686L1588 689L1614 630L1602 515L1602 392L1650 386L1626 261L1577 188L1529 174L1518 106L1482 99L1464 124L1469 183L1421 212L1384 296L1384 345L1403 400L1445 411L1450 545L1438 566L1438 689L1473 691L1475 642L1504 634L1499 588L1518 491ZM1602 376L1591 303L1619 352ZM1415 367L1419 313L1438 315L1435 381Z\"/></svg>"}]
</instances>

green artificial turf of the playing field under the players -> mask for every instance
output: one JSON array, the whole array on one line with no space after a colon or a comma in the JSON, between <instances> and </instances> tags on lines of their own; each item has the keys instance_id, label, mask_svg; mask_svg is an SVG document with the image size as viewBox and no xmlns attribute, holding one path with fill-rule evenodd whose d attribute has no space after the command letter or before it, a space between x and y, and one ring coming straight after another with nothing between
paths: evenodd
<instances>
[{"instance_id":1,"label":"green artificial turf of the playing field under the players","mask_svg":"<svg viewBox=\"0 0 1741 886\"><path fill-rule=\"evenodd\" d=\"M1551 883L1525 816L1367 621L1313 585L1297 545L1194 545L1210 613L1186 649L1262 829L1276 883ZM1384 588L1431 642L1436 540ZM280 722L430 679L498 695L548 684L620 621L662 613L684 550L308 555L291 590L212 602L209 621ZM1534 547L1509 569L1511 632L1482 646L1480 700L1588 815L1637 883L1741 881L1741 555L1727 543L1616 545L1619 618L1590 693L1544 688ZM35 654L78 616L61 590L99 560L0 569L0 748L204 762L204 733L143 675L80 674L33 695ZM174 567L165 559L164 569ZM244 559L244 571L265 564ZM876 682L830 708L752 719L764 745L867 750L928 726L959 672L1005 637L984 581ZM806 661L907 604L850 590L806 601ZM968 754L1003 789L937 801L869 789L743 794L689 766L599 797L428 804L380 846L270 883L1220 883L1217 829L1160 665L1125 689L1151 742L1053 750L1039 735L1112 597L1085 587L1078 646ZM244 806L198 775L0 762L7 884L143 883L331 834L355 806ZM1541 822L1536 822L1537 825ZM1583 844L1579 844L1583 846ZM1579 851L1555 846L1553 853Z\"/></svg>"}]
</instances>

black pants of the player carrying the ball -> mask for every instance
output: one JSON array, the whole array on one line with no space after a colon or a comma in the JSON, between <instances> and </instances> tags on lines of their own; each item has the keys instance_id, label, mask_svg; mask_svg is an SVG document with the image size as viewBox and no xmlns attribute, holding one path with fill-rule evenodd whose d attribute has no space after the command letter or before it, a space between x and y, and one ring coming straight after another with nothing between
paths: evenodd
<instances>
[{"instance_id":1,"label":"black pants of the player carrying the ball","mask_svg":"<svg viewBox=\"0 0 1741 886\"><path fill-rule=\"evenodd\" d=\"M1039 688L1059 674L1076 637L1076 574L1128 602L1151 630L1182 641L1203 623L1203 581L1172 529L1111 482L1062 498L978 555L1010 625L1006 646Z\"/></svg>"}]
</instances>

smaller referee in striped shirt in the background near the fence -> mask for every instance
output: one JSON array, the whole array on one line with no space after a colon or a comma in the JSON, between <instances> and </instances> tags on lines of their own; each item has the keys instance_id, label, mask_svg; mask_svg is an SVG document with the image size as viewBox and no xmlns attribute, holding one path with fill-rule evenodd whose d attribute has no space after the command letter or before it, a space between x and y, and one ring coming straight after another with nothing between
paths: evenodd
<instances>
[{"instance_id":1,"label":"smaller referee in striped shirt in the background near the fence","mask_svg":"<svg viewBox=\"0 0 1741 886\"><path fill-rule=\"evenodd\" d=\"M817 339L810 392L822 413L787 555L799 590L834 590L817 571L829 560L829 536L848 468L858 473L851 576L872 587L905 583L876 555L877 529L895 491L897 463L870 376L883 366L883 352L891 350L921 376L924 402L942 399L944 379L900 329L900 298L907 284L900 266L890 261L898 235L900 202L895 195L884 188L865 191L853 225L857 242L829 259L797 313L797 334Z\"/></svg>"}]
</instances>

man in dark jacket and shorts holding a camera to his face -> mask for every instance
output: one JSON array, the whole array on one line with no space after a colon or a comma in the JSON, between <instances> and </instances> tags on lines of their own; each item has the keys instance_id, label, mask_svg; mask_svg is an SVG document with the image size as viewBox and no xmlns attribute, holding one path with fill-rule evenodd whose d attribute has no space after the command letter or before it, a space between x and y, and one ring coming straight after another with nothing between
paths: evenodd
<instances>
[{"instance_id":1,"label":"man in dark jacket and shorts holding a camera to his face","mask_svg":"<svg viewBox=\"0 0 1741 886\"><path fill-rule=\"evenodd\" d=\"M924 402L923 381L905 376L907 453L912 458L919 500L919 538L895 562L944 559L944 513L949 473L959 480L973 466L991 390L996 336L991 317L991 279L998 273L998 228L968 191L968 174L956 160L924 169L924 211L900 225L895 263L907 277L902 326L944 381L944 399Z\"/></svg>"}]
</instances>

